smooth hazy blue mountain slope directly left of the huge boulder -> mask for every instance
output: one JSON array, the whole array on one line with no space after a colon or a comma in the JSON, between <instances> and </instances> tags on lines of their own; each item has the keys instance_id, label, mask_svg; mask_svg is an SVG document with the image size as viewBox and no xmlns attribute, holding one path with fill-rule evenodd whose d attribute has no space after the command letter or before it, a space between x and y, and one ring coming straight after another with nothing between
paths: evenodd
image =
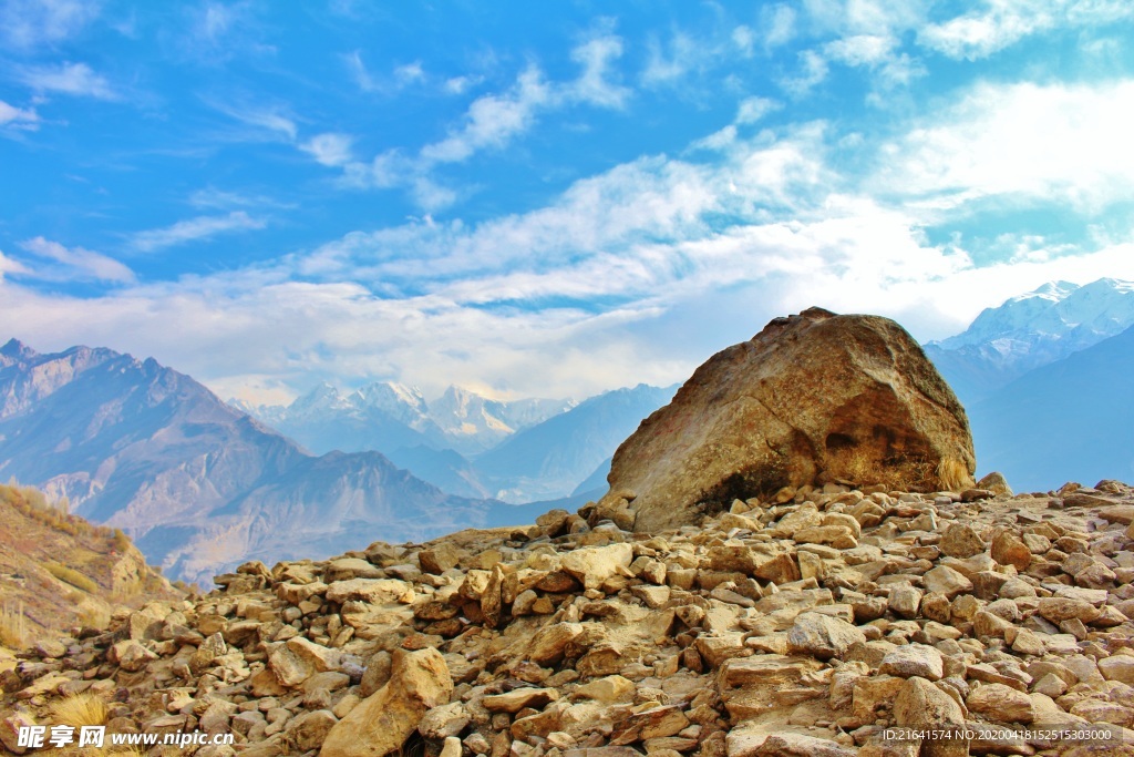
<instances>
[{"instance_id":1,"label":"smooth hazy blue mountain slope directly left of the huge boulder","mask_svg":"<svg viewBox=\"0 0 1134 757\"><path fill-rule=\"evenodd\" d=\"M600 394L516 434L474 464L505 502L567 497L675 392L676 385L640 384Z\"/></svg>"}]
</instances>

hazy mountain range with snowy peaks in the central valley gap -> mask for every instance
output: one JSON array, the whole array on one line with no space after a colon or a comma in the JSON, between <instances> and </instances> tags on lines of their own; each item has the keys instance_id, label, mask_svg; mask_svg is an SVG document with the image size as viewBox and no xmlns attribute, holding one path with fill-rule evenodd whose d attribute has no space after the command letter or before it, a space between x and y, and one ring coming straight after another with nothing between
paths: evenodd
<instances>
[{"instance_id":1,"label":"hazy mountain range with snowy peaks in the central valley gap","mask_svg":"<svg viewBox=\"0 0 1134 757\"><path fill-rule=\"evenodd\" d=\"M519 504L574 494L676 390L641 384L579 404L501 402L452 386L426 401L400 384L348 394L322 384L287 406L232 404L316 454L378 451L451 494Z\"/></svg>"}]
</instances>

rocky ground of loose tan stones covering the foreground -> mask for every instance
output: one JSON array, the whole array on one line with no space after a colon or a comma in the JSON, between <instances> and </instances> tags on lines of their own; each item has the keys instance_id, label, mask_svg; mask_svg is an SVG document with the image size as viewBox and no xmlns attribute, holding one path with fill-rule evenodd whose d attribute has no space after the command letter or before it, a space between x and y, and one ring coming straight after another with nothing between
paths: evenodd
<instances>
[{"instance_id":1,"label":"rocky ground of loose tan stones covering the foreground","mask_svg":"<svg viewBox=\"0 0 1134 757\"><path fill-rule=\"evenodd\" d=\"M236 734L200 757L1134 754L1134 490L983 485L788 489L655 533L558 511L248 563L37 642L0 674L0 739L22 754L20 724L86 692L110 731ZM886 733L966 723L1126 743Z\"/></svg>"}]
</instances>

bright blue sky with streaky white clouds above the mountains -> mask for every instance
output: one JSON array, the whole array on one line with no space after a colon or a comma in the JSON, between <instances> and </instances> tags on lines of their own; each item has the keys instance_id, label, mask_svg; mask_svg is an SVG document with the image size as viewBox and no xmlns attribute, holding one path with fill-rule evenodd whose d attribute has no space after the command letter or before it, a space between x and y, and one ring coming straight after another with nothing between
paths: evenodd
<instances>
[{"instance_id":1,"label":"bright blue sky with streaky white clouds above the mountains","mask_svg":"<svg viewBox=\"0 0 1134 757\"><path fill-rule=\"evenodd\" d=\"M1134 278L1125 0L0 0L0 334L221 396L684 380Z\"/></svg>"}]
</instances>

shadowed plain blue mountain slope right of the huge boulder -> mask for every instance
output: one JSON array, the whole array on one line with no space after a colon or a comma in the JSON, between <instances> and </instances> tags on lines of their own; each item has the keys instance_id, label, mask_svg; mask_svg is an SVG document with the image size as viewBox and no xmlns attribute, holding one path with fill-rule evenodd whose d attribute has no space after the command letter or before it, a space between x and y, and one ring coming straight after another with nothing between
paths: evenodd
<instances>
[{"instance_id":1,"label":"shadowed plain blue mountain slope right of the huge boulder","mask_svg":"<svg viewBox=\"0 0 1134 757\"><path fill-rule=\"evenodd\" d=\"M1017 491L1134 480L1134 328L1029 371L967 407L981 471Z\"/></svg>"}]
</instances>

